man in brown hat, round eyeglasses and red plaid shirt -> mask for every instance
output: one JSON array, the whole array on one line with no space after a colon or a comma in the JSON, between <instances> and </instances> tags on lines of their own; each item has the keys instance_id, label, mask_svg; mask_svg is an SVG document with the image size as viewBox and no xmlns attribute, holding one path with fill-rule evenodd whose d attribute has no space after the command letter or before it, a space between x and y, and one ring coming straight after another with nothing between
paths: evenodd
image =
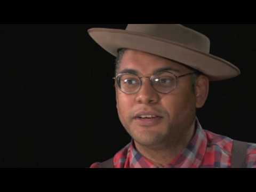
<instances>
[{"instance_id":1,"label":"man in brown hat, round eyeglasses and red plaid shirt","mask_svg":"<svg viewBox=\"0 0 256 192\"><path fill-rule=\"evenodd\" d=\"M256 145L203 130L196 117L209 81L240 70L210 54L205 35L178 24L89 29L116 59L119 119L132 142L91 167L256 167Z\"/></svg>"}]
</instances>

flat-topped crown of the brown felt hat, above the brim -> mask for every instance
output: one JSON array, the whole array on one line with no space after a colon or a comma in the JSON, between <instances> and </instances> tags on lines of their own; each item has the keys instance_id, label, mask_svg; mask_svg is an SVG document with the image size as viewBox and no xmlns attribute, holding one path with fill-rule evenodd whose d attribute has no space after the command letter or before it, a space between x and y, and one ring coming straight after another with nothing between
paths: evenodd
<instances>
[{"instance_id":1,"label":"flat-topped crown of the brown felt hat, above the brim","mask_svg":"<svg viewBox=\"0 0 256 192\"><path fill-rule=\"evenodd\" d=\"M129 24L126 30L166 39L191 49L210 53L208 37L180 24Z\"/></svg>"}]
</instances>

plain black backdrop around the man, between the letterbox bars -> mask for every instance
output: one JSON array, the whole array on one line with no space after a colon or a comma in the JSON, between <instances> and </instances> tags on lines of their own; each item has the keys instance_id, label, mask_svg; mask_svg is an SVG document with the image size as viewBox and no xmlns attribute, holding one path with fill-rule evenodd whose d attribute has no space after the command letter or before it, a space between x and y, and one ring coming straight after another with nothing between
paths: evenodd
<instances>
[{"instance_id":1,"label":"plain black backdrop around the man, between the letterbox bars","mask_svg":"<svg viewBox=\"0 0 256 192\"><path fill-rule=\"evenodd\" d=\"M211 39L211 53L242 71L211 83L204 129L256 142L256 24L183 24ZM126 24L0 25L0 167L88 167L130 142L119 122L114 57L87 34Z\"/></svg>"}]
</instances>

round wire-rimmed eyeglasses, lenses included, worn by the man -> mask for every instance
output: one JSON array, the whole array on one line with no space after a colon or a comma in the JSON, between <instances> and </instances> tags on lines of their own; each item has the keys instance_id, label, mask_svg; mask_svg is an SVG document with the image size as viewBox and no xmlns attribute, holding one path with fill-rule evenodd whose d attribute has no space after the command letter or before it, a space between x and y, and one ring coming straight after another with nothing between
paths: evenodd
<instances>
[{"instance_id":1,"label":"round wire-rimmed eyeglasses, lenses included, worn by the man","mask_svg":"<svg viewBox=\"0 0 256 192\"><path fill-rule=\"evenodd\" d=\"M124 73L124 74L117 75L113 79L116 80L116 85L118 89L125 94L138 93L141 89L142 78L150 78L151 85L153 86L155 91L159 93L167 94L177 88L179 83L179 78L196 74L196 73L197 72L194 71L193 73L177 76L171 73L170 71L162 71L151 77L139 77L137 75Z\"/></svg>"}]
</instances>

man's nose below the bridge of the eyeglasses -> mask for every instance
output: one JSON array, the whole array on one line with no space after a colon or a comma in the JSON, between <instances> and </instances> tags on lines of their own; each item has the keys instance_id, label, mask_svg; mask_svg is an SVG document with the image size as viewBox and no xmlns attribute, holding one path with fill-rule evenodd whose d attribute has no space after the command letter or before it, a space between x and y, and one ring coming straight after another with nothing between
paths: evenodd
<instances>
[{"instance_id":1,"label":"man's nose below the bridge of the eyeglasses","mask_svg":"<svg viewBox=\"0 0 256 192\"><path fill-rule=\"evenodd\" d=\"M136 101L141 104L154 104L159 101L159 95L150 83L149 78L141 79L142 85L140 91L137 93Z\"/></svg>"}]
</instances>

